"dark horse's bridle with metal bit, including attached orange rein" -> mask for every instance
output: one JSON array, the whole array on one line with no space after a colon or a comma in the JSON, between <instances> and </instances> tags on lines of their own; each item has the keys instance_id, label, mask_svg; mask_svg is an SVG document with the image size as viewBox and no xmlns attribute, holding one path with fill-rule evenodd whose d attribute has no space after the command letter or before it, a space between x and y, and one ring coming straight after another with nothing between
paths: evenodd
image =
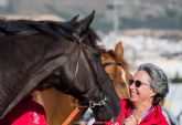
<instances>
[{"instance_id":1,"label":"dark horse's bridle with metal bit, including attached orange rein","mask_svg":"<svg viewBox=\"0 0 182 125\"><path fill-rule=\"evenodd\" d=\"M75 79L74 79L73 82L75 82L76 76L77 76L77 73L78 73L81 51L83 51L84 56L85 56L85 59L86 59L86 61L87 61L87 63L88 63L89 70L90 70L90 72L92 72L93 76L94 76L94 81L95 81L96 85L98 85L99 91L103 92L103 88L101 88L101 86L100 86L100 84L99 84L99 81L98 81L97 77L96 77L95 70L94 70L93 65L90 64L90 62L89 62L89 60L88 60L88 58L87 58L88 54L87 54L87 52L86 52L85 49L84 49L84 44L82 43L82 42L85 40L85 38L87 37L87 34L85 34L84 37L79 38L79 37L76 35L75 33L73 33L73 37L75 38L75 41L76 41L77 45L79 46L79 51L78 51L78 54L77 54L76 69L75 69L75 73L74 73ZM109 77L107 77L106 80L104 80L104 83L107 82L108 79L109 79ZM103 82L103 81L101 81L101 82ZM69 88L68 88L68 90L69 90ZM90 95L94 95L94 92L93 92ZM106 104L107 104L107 103L106 103L106 102L107 102L107 97L106 97L105 95L103 95L103 94L100 94L100 101L98 101L98 102L94 102L94 101L92 101L90 98L92 98L92 96L88 97L88 100L86 100L86 101L84 101L84 102L77 102L77 101L75 101L75 106L76 106L76 107L75 107L74 111L72 111L72 113L66 117L66 119L63 122L62 125L67 125L68 123L71 123L71 122L73 121L73 118L79 113L81 108L88 108L88 107L89 107L89 108L94 108L95 106L103 106L103 105L106 105ZM85 105L85 103L87 103L87 102L88 102L88 106Z\"/></svg>"}]
</instances>

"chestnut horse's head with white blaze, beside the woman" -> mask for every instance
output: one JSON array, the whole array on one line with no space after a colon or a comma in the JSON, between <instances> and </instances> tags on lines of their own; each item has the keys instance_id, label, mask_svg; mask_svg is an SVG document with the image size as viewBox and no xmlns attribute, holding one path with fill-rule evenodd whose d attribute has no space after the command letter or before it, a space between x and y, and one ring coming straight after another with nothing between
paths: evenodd
<instances>
[{"instance_id":1,"label":"chestnut horse's head with white blaze, beside the woman","mask_svg":"<svg viewBox=\"0 0 182 125\"><path fill-rule=\"evenodd\" d=\"M106 72L114 81L115 90L119 97L129 97L128 82L130 73L128 70L128 63L124 58L124 46L121 42L118 42L115 50L101 50L101 62Z\"/></svg>"}]
</instances>

